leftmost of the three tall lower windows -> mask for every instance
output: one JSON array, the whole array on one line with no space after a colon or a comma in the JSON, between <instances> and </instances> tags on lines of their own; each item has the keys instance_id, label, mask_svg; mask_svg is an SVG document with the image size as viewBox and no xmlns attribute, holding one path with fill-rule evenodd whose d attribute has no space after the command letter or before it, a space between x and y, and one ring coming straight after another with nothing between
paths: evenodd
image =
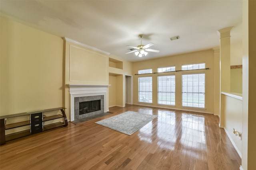
<instances>
[{"instance_id":1,"label":"leftmost of the three tall lower windows","mask_svg":"<svg viewBox=\"0 0 256 170\"><path fill-rule=\"evenodd\" d=\"M139 77L139 102L152 103L152 77Z\"/></svg>"}]
</instances>

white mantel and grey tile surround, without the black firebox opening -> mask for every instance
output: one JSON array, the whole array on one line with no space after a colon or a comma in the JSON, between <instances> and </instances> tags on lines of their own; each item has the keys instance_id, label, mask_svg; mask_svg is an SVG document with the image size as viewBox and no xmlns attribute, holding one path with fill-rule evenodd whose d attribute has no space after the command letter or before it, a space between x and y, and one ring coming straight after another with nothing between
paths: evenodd
<instances>
[{"instance_id":1,"label":"white mantel and grey tile surround, without the black firebox opening","mask_svg":"<svg viewBox=\"0 0 256 170\"><path fill-rule=\"evenodd\" d=\"M69 84L70 121L107 112L107 88L108 85ZM100 100L101 110L79 115L79 102L87 102L92 100Z\"/></svg>"}]
</instances>

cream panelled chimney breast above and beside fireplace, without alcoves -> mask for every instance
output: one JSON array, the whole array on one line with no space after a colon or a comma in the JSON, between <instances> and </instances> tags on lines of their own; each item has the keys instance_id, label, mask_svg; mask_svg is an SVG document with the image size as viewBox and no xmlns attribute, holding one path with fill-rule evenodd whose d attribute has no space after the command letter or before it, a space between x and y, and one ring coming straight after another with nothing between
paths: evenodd
<instances>
[{"instance_id":1,"label":"cream panelled chimney breast above and beside fireplace, without alcoves","mask_svg":"<svg viewBox=\"0 0 256 170\"><path fill-rule=\"evenodd\" d=\"M67 119L70 120L69 84L108 85L108 55L67 38L64 42L65 106ZM106 103L108 108L108 100Z\"/></svg>"}]
</instances>

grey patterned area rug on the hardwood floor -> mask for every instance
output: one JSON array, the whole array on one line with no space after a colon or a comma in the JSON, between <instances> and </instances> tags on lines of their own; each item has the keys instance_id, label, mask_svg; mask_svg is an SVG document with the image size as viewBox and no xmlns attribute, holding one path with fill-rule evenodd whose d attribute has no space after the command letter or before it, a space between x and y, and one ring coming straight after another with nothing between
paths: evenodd
<instances>
[{"instance_id":1,"label":"grey patterned area rug on the hardwood floor","mask_svg":"<svg viewBox=\"0 0 256 170\"><path fill-rule=\"evenodd\" d=\"M136 132L156 117L157 115L126 111L95 123L122 132L126 135L132 135L132 133Z\"/></svg>"}]
</instances>

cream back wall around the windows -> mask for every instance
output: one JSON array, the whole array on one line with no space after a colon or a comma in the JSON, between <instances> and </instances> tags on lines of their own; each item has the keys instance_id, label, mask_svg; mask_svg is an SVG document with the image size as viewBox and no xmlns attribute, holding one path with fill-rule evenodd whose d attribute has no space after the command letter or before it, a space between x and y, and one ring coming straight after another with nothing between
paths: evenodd
<instances>
[{"instance_id":1,"label":"cream back wall around the windows","mask_svg":"<svg viewBox=\"0 0 256 170\"><path fill-rule=\"evenodd\" d=\"M146 75L136 75L133 78L133 101L134 104L145 105L145 106L155 106L155 107L165 107L171 109L182 109L189 111L198 111L203 113L214 113L214 52L212 49L205 51L197 51L194 53L186 53L182 55L175 55L170 57L163 57L158 59L152 59L142 62L136 62L133 64L133 74L138 74L138 70L152 68L153 72L157 72L158 67L163 66L176 66L176 70L181 70L182 64L193 64L193 63L206 63L206 68L209 70L189 70L181 72L170 72L170 73L160 73L160 74L146 74ZM206 87L205 87L205 109L196 109L191 107L182 107L182 74L186 73L205 73L206 74ZM175 75L176 77L176 106L166 106L157 104L157 76L158 75ZM152 98L153 103L147 104L138 102L138 77L152 76Z\"/></svg>"}]
</instances>

